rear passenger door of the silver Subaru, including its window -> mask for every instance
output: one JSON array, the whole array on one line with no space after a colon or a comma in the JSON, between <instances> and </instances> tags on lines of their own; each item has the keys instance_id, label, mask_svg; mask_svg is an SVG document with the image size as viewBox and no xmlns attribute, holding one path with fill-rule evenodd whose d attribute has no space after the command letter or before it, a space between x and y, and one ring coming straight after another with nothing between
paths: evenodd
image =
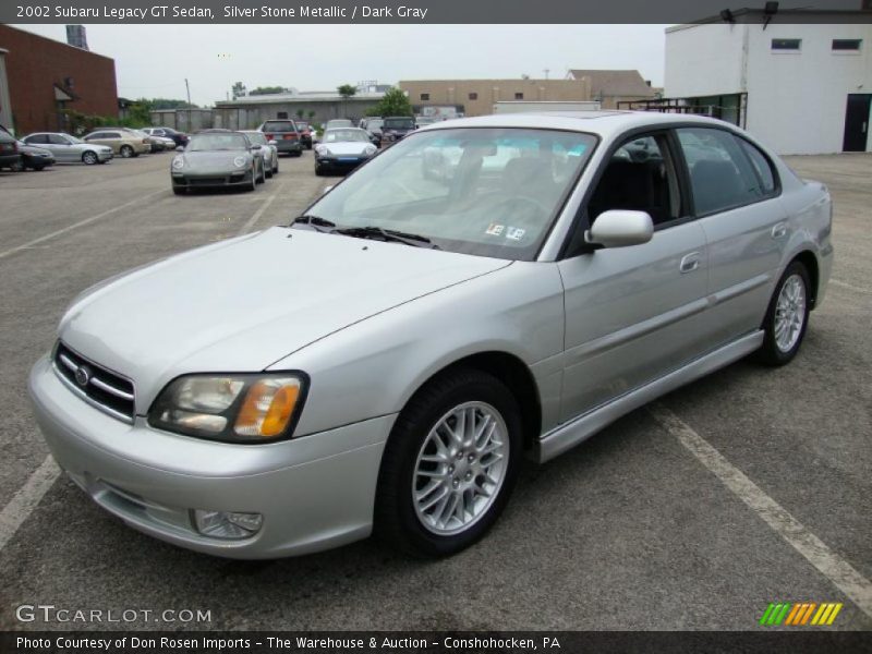
<instances>
[{"instance_id":1,"label":"rear passenger door of the silver Subaru, including its window","mask_svg":"<svg viewBox=\"0 0 872 654\"><path fill-rule=\"evenodd\" d=\"M725 343L760 327L790 225L768 157L727 130L677 130L693 195L694 214L708 243L705 329Z\"/></svg>"}]
</instances>

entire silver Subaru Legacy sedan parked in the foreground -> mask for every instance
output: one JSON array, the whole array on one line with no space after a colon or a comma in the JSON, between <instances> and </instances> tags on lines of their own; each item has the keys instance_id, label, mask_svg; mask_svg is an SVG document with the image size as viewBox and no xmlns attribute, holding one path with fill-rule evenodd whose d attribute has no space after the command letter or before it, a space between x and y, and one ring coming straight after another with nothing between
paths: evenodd
<instances>
[{"instance_id":1,"label":"entire silver Subaru Legacy sedan parked in the foreground","mask_svg":"<svg viewBox=\"0 0 872 654\"><path fill-rule=\"evenodd\" d=\"M85 291L31 392L59 464L158 538L270 558L375 530L447 555L524 455L748 354L789 362L831 220L823 185L719 121L444 122L288 227Z\"/></svg>"}]
</instances>

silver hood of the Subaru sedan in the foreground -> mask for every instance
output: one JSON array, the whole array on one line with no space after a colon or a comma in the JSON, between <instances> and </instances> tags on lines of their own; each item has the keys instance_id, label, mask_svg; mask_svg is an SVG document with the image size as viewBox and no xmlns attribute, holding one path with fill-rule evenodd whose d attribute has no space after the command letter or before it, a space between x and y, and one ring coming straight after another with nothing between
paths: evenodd
<instances>
[{"instance_id":1,"label":"silver hood of the Subaru sedan in the foreground","mask_svg":"<svg viewBox=\"0 0 872 654\"><path fill-rule=\"evenodd\" d=\"M509 264L276 227L97 284L68 310L59 335L133 379L144 413L180 374L265 370L351 324Z\"/></svg>"}]
</instances>

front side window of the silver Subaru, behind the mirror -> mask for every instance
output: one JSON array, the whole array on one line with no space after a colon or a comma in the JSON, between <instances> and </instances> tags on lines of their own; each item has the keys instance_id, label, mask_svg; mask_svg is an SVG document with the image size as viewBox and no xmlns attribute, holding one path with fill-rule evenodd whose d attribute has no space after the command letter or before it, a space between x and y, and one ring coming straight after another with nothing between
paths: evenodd
<instances>
[{"instance_id":1,"label":"front side window of the silver Subaru, behind the mirror","mask_svg":"<svg viewBox=\"0 0 872 654\"><path fill-rule=\"evenodd\" d=\"M588 218L610 209L646 211L655 226L681 217L681 194L666 136L634 136L615 150L588 202Z\"/></svg>"}]
</instances>

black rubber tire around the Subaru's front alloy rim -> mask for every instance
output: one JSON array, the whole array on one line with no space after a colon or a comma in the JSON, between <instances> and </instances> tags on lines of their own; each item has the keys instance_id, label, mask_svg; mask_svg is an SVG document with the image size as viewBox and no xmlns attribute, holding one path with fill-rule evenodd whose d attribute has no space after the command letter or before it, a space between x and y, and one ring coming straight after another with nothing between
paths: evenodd
<instances>
[{"instance_id":1,"label":"black rubber tire around the Subaru's front alloy rim","mask_svg":"<svg viewBox=\"0 0 872 654\"><path fill-rule=\"evenodd\" d=\"M424 526L412 501L415 464L431 429L452 408L472 401L489 404L505 423L508 460L502 483L491 504L463 531L437 534ZM469 547L487 533L505 508L520 470L521 444L517 400L502 382L474 368L457 368L434 378L409 400L385 447L376 491L375 533L389 545L419 556L449 556Z\"/></svg>"}]
</instances>

